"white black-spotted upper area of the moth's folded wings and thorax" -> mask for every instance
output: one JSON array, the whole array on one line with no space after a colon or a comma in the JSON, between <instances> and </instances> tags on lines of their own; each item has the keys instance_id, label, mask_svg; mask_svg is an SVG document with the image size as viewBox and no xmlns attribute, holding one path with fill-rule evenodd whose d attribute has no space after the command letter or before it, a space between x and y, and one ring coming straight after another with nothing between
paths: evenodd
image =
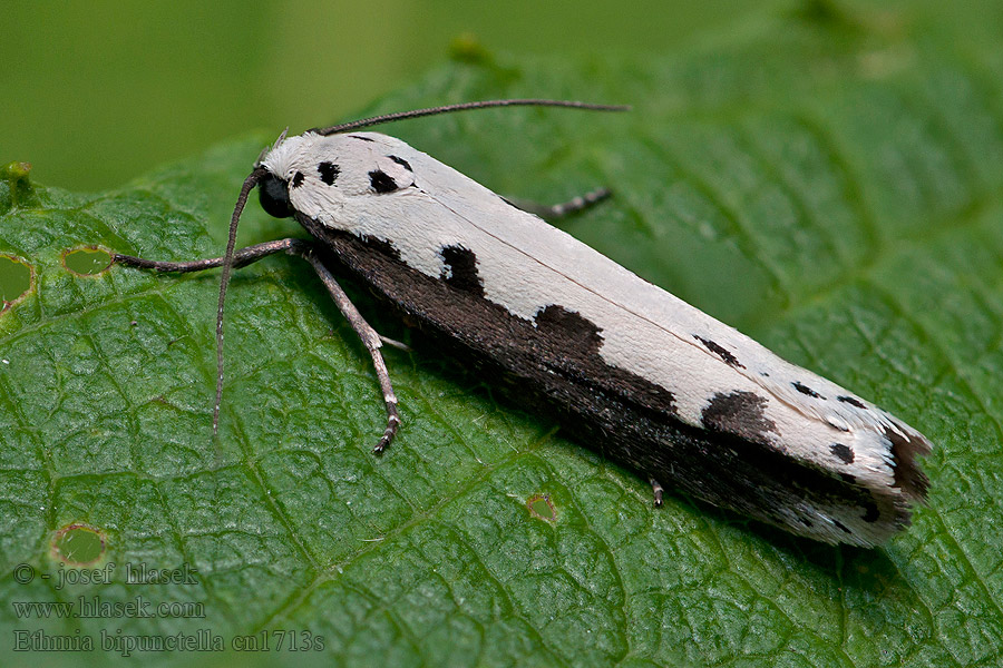
<instances>
[{"instance_id":1,"label":"white black-spotted upper area of the moth's folded wings and thorax","mask_svg":"<svg viewBox=\"0 0 1003 668\"><path fill-rule=\"evenodd\" d=\"M837 494L804 510L791 505L790 512L830 527L850 524L863 544L907 522L908 501L926 488L915 456L929 451L915 430L421 151L382 135L359 135L364 139L358 141L372 145L362 147L370 153L350 156L359 163L352 168L359 196L324 199L318 188L298 202L291 193L296 208L313 207L332 227L386 244L410 269L475 291L504 318L537 331L556 327L568 350L587 351L587 360L576 364L588 367L588 382L646 402L642 407L663 411L666 419L767 446L873 501L857 507L851 494ZM407 164L408 174L397 171L395 178L410 183L367 191L364 175L376 165L395 169L388 158ZM342 159L343 167L348 163ZM347 178L344 169L339 178ZM795 518L768 521L810 533ZM836 538L826 531L816 537L847 541L837 529Z\"/></svg>"}]
</instances>

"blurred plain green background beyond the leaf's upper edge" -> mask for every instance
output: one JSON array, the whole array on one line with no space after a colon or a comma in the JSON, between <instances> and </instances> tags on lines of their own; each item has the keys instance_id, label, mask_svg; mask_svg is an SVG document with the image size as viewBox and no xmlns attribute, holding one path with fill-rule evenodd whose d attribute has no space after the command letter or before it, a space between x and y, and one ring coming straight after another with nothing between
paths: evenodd
<instances>
[{"instance_id":1,"label":"blurred plain green background beyond the leaf's upper edge","mask_svg":"<svg viewBox=\"0 0 1003 668\"><path fill-rule=\"evenodd\" d=\"M99 190L251 129L343 118L447 58L457 38L490 52L654 53L819 4L3 1L0 164L27 160L36 180ZM999 0L968 2L963 18L939 0L853 4L946 22L964 40L1003 30Z\"/></svg>"}]
</instances>

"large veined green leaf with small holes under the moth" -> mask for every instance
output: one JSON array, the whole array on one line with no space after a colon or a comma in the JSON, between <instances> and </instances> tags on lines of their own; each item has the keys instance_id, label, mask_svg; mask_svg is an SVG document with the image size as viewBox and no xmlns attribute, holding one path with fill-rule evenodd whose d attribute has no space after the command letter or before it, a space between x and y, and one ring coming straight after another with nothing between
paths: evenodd
<instances>
[{"instance_id":1,"label":"large veined green leaf with small holes under the moth","mask_svg":"<svg viewBox=\"0 0 1003 668\"><path fill-rule=\"evenodd\" d=\"M660 58L465 52L368 111L529 96L634 105L388 131L499 193L613 188L566 228L931 436L929 507L909 531L876 550L829 548L679 495L654 510L637 475L496 402L490 379L350 286L381 333L416 345L387 352L405 425L376 458L384 416L368 356L309 267L284 256L233 281L214 443L218 274L79 275L62 253L218 255L240 183L273 139L262 135L119 191L20 173L0 184L0 255L33 271L0 315L6 649L25 631L89 637L90 659L139 637L227 649L267 637L255 657L277 664L999 662L1001 45L962 51L817 4ZM253 205L242 225L243 244L303 235ZM61 570L75 530L104 553ZM194 569L194 581L128 582L126 564ZM92 569L110 583L58 587ZM40 620L18 607L80 597L204 616Z\"/></svg>"}]
</instances>

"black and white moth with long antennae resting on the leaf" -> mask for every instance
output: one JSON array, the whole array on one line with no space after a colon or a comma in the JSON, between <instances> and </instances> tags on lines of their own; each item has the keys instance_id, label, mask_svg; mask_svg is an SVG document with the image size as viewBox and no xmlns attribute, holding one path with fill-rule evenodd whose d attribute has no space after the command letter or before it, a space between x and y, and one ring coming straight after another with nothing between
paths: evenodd
<instances>
[{"instance_id":1,"label":"black and white moth with long antennae resting on the leaf","mask_svg":"<svg viewBox=\"0 0 1003 668\"><path fill-rule=\"evenodd\" d=\"M514 394L547 405L583 443L652 481L828 543L875 546L909 524L929 441L902 420L617 265L568 234L399 139L356 131L381 122L499 106L617 107L491 100L392 114L279 138L244 181L224 257L115 262L165 272L231 267L285 252L309 261L370 352L400 418L380 347L332 268L367 284L449 350L499 372ZM234 252L257 187L276 217L312 239ZM578 198L580 208L592 198Z\"/></svg>"}]
</instances>

